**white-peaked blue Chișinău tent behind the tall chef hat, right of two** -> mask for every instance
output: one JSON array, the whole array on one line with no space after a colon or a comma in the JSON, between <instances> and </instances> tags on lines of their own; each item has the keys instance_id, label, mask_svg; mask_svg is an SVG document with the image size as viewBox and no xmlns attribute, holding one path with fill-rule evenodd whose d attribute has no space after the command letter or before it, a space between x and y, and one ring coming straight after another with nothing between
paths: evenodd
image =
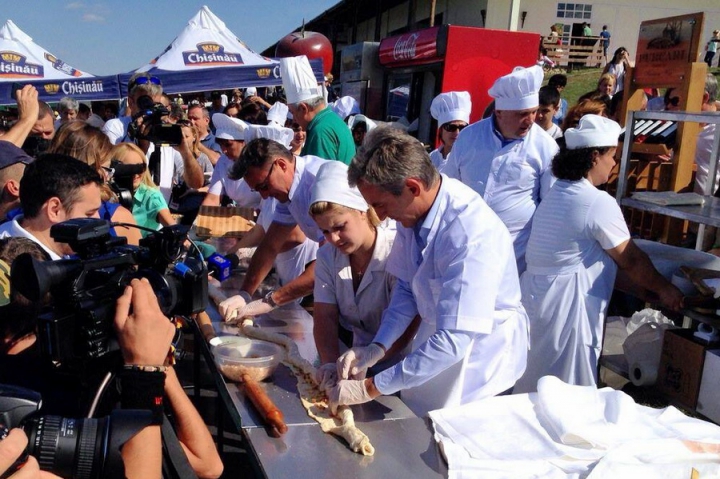
<instances>
[{"instance_id":1,"label":"white-peaked blue Chi\u0219in\u0103u tent behind the tall chef hat, right of two","mask_svg":"<svg viewBox=\"0 0 720 479\"><path fill-rule=\"evenodd\" d=\"M311 65L321 82L322 62ZM282 84L278 61L252 51L207 6L160 55L136 71L160 78L170 94ZM133 73L119 75L123 96Z\"/></svg>"}]
</instances>

